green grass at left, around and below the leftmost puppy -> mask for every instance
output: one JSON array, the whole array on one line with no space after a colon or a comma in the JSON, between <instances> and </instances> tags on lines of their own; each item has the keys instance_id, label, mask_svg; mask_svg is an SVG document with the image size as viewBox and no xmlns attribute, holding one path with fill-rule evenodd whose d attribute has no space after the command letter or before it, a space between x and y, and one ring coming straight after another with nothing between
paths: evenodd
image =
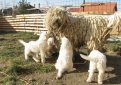
<instances>
[{"instance_id":1,"label":"green grass at left, around and below the leftmost puppy","mask_svg":"<svg viewBox=\"0 0 121 85\"><path fill-rule=\"evenodd\" d=\"M24 59L24 47L18 42L18 39L28 42L36 40L38 37L26 32L0 33L0 85L25 85L19 76L52 71L52 64L42 65L35 63L32 59L29 61Z\"/></svg>"}]
</instances>

